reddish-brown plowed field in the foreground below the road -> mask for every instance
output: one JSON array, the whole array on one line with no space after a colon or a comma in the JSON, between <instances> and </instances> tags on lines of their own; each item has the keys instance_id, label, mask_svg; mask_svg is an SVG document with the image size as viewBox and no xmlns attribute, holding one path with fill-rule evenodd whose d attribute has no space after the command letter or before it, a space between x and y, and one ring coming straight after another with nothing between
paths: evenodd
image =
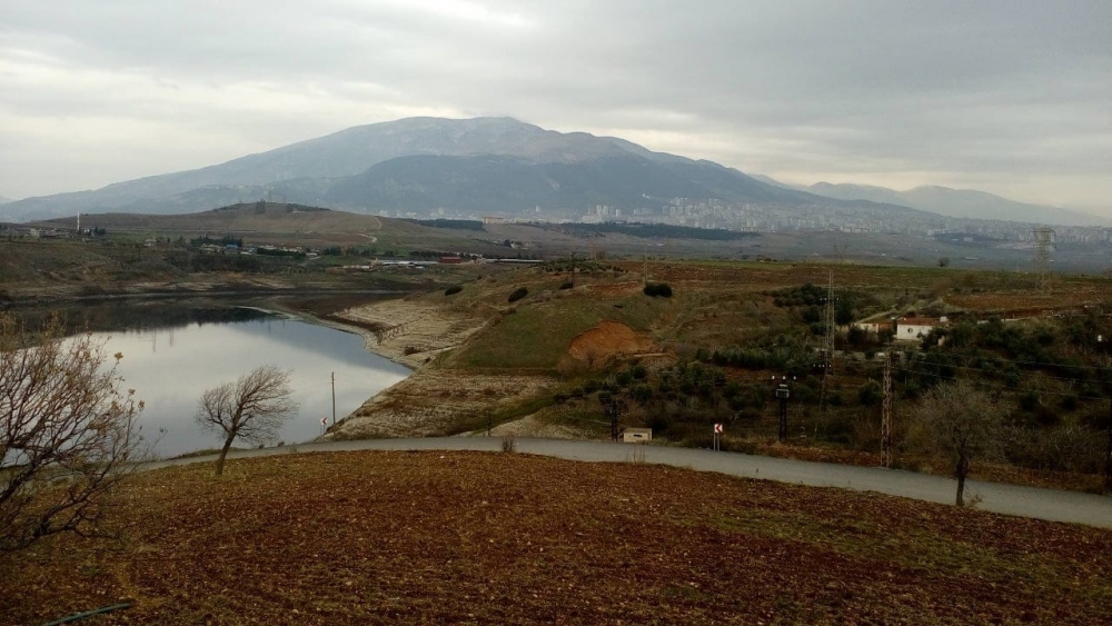
<instances>
[{"instance_id":1,"label":"reddish-brown plowed field in the foreground below the road","mask_svg":"<svg viewBox=\"0 0 1112 626\"><path fill-rule=\"evenodd\" d=\"M1108 623L1112 533L637 464L336 453L150 471L0 623Z\"/></svg>"}]
</instances>

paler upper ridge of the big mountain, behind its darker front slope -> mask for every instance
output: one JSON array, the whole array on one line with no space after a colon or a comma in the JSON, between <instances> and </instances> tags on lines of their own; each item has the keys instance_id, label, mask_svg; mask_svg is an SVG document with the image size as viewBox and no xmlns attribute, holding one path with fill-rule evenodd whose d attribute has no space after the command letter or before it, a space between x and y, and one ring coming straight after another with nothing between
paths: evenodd
<instances>
[{"instance_id":1,"label":"paler upper ridge of the big mountain, behind its darker front slope","mask_svg":"<svg viewBox=\"0 0 1112 626\"><path fill-rule=\"evenodd\" d=\"M544 130L510 118L409 118L341 130L206 168L118 182L93 191L28 198L0 217L60 217L87 212L173 213L255 200L279 189L311 201L327 180L363 173L398 157L498 155L528 162L583 162L636 155L683 160L616 138Z\"/></svg>"}]
</instances>

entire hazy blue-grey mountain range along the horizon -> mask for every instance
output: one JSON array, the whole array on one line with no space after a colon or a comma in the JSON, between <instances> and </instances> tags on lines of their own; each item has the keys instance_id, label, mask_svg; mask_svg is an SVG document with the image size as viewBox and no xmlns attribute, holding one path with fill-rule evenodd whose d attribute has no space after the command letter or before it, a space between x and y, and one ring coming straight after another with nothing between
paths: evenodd
<instances>
[{"instance_id":1,"label":"entire hazy blue-grey mountain range along the horizon","mask_svg":"<svg viewBox=\"0 0 1112 626\"><path fill-rule=\"evenodd\" d=\"M770 183L772 182L772 183ZM1049 221L1063 211L981 192L821 183L798 189L758 180L711 161L653 152L629 141L562 133L510 118L409 118L360 126L197 170L109 185L93 191L26 198L0 207L0 219L77 212L179 213L269 197L354 211L536 215L575 218L603 205L622 215L662 210L673 199L823 210L846 219L877 215L930 219L914 209L957 217ZM846 217L847 216L847 217ZM1091 216L1090 222L1100 220ZM1061 223L1061 222L1059 222Z\"/></svg>"}]
</instances>

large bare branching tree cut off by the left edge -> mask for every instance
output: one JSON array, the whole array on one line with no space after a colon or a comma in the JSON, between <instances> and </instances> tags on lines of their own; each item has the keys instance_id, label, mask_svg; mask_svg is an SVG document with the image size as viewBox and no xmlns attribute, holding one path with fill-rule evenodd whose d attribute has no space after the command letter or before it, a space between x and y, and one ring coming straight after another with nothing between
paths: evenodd
<instances>
[{"instance_id":1,"label":"large bare branching tree cut off by the left edge","mask_svg":"<svg viewBox=\"0 0 1112 626\"><path fill-rule=\"evenodd\" d=\"M0 553L48 535L98 531L106 495L137 460L142 401L122 391L116 354L67 340L60 317L41 332L0 315Z\"/></svg>"}]
</instances>

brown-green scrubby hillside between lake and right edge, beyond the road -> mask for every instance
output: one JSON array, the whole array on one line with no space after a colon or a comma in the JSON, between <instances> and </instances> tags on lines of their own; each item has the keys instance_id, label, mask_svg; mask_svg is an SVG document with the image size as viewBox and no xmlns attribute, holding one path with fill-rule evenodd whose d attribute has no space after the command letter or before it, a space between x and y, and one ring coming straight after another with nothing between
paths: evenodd
<instances>
[{"instance_id":1,"label":"brown-green scrubby hillside between lake and right edge, beyond the road","mask_svg":"<svg viewBox=\"0 0 1112 626\"><path fill-rule=\"evenodd\" d=\"M646 270L671 297L644 292ZM939 336L953 339L921 346L892 341L891 329L843 326L837 376L824 381L814 364L825 289L815 286L831 276L840 324L947 316ZM1099 277L1037 285L1030 275L939 267L659 259L580 259L574 287L567 259L476 276L453 292L336 314L383 331L374 349L417 371L325 438L456 435L488 424L520 436L609 438L606 403L616 399L619 426L652 428L654 439L708 447L709 425L726 423L728 449L874 465L877 354L893 350L902 467L949 473L936 449L914 441L914 416L930 389L971 378L993 389L1014 425L979 476L1100 489L1108 348L1095 337L1108 336L1112 292ZM768 379L784 375L794 380L788 446L770 445L777 424ZM825 407L824 385L833 403Z\"/></svg>"}]
</instances>

